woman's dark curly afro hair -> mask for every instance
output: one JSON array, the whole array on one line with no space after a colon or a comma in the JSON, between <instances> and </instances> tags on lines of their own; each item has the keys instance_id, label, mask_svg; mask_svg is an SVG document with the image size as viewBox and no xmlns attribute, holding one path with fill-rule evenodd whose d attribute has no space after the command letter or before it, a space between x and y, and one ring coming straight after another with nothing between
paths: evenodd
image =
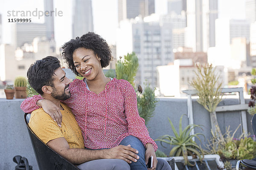
<instances>
[{"instance_id":1,"label":"woman's dark curly afro hair","mask_svg":"<svg viewBox=\"0 0 256 170\"><path fill-rule=\"evenodd\" d=\"M66 60L69 68L76 75L79 75L79 73L76 71L76 67L73 63L73 52L78 48L90 49L94 52L95 55L97 54L101 59L100 63L102 68L109 65L111 60L111 50L108 46L108 43L98 34L95 34L94 32L88 32L81 37L76 37L76 39L72 39L69 42L66 42L62 46L63 58Z\"/></svg>"}]
</instances>

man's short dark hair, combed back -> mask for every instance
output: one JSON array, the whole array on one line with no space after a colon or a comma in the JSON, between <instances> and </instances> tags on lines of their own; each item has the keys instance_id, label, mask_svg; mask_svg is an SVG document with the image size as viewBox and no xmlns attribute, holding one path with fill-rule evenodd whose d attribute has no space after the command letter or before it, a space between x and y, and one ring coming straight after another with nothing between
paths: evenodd
<instances>
[{"instance_id":1,"label":"man's short dark hair, combed back","mask_svg":"<svg viewBox=\"0 0 256 170\"><path fill-rule=\"evenodd\" d=\"M42 87L44 85L53 86L53 74L60 67L60 61L56 57L47 56L36 60L34 64L30 65L27 72L29 84L36 92L44 94Z\"/></svg>"}]
</instances>

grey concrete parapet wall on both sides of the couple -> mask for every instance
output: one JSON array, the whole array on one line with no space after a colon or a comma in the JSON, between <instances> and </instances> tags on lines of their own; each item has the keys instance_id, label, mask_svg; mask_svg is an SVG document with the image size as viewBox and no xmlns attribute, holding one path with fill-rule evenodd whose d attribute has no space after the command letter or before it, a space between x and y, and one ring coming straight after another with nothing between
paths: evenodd
<instances>
[{"instance_id":1,"label":"grey concrete parapet wall on both sides of the couple","mask_svg":"<svg viewBox=\"0 0 256 170\"><path fill-rule=\"evenodd\" d=\"M29 164L33 166L33 170L38 170L37 162L35 159L32 144L29 139L29 134L24 122L24 113L20 110L20 104L23 99L0 99L0 169L13 170L16 164L12 161L16 155L25 156ZM246 100L248 103L249 100ZM238 104L238 99L224 99L219 105ZM210 133L210 117L209 113L193 99L193 113L194 123L203 125L201 129L195 129L195 133L203 133L207 139L211 137ZM187 99L163 99L160 98L157 102L154 117L150 119L147 124L150 136L157 139L162 135L174 135L168 121L168 117L172 120L175 128L178 128L179 119L182 114L187 114ZM248 131L253 134L251 127L252 116L247 114ZM217 113L218 123L221 127L222 133L225 131L226 126L230 125L230 130L235 130L241 122L239 112ZM182 127L188 125L187 116L183 116ZM238 130L236 136L241 134ZM202 142L204 139L201 137ZM198 142L198 141L196 141ZM170 152L170 147L166 144L167 148L157 142L160 150L167 155Z\"/></svg>"}]
</instances>

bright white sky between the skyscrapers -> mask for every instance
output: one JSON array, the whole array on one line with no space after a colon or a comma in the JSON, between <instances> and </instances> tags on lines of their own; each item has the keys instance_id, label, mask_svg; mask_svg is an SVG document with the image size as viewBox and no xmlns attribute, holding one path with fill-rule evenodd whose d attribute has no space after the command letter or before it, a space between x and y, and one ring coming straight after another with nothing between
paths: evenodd
<instances>
[{"instance_id":1,"label":"bright white sky between the skyscrapers","mask_svg":"<svg viewBox=\"0 0 256 170\"><path fill-rule=\"evenodd\" d=\"M232 4L232 5L231 5ZM101 35L109 44L116 43L116 28L118 27L117 0L92 0L93 25L96 34ZM12 42L12 23L8 23L7 11L44 11L43 0L0 0L2 14L3 43ZM55 41L57 46L72 38L72 0L54 0L54 8L62 11L63 16L55 17ZM245 0L219 0L219 18L244 19ZM167 0L155 0L155 12L167 13ZM34 23L44 23L44 18L31 18Z\"/></svg>"}]
</instances>

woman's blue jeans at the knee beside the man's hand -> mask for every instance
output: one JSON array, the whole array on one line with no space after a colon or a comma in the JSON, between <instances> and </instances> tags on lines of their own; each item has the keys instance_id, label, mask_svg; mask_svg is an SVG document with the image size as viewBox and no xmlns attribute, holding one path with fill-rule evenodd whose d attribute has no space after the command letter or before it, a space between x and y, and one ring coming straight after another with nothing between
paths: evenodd
<instances>
[{"instance_id":1,"label":"woman's blue jeans at the knee beside the man's hand","mask_svg":"<svg viewBox=\"0 0 256 170\"><path fill-rule=\"evenodd\" d=\"M120 144L125 146L130 144L132 148L139 151L137 155L140 156L140 159L137 159L137 162L132 161L131 164L129 164L131 170L147 170L145 164L145 147L138 138L134 136L126 136L124 139L122 139Z\"/></svg>"}]
</instances>

